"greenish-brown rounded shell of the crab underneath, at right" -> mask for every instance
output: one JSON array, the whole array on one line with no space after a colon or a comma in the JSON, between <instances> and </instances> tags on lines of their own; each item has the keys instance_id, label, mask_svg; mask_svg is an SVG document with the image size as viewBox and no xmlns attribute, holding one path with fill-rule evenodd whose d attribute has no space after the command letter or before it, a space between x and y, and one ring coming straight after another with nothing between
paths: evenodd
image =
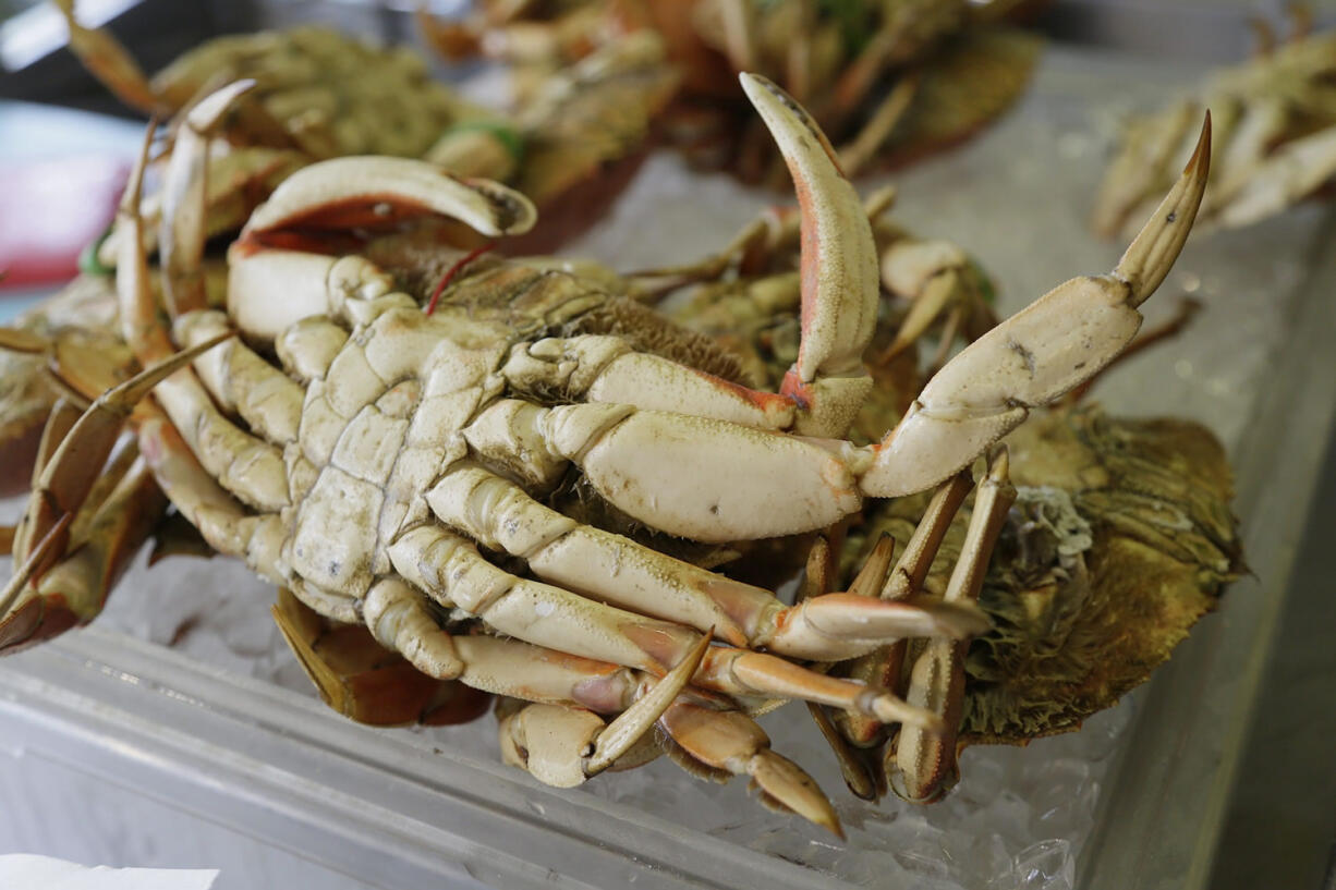
<instances>
[{"instance_id":1,"label":"greenish-brown rounded shell of the crab underneath, at right","mask_svg":"<svg viewBox=\"0 0 1336 890\"><path fill-rule=\"evenodd\" d=\"M1162 664L1240 569L1232 476L1205 428L1098 408L1033 416L1006 440L1018 498L979 604L962 740L1021 743L1075 730ZM903 541L926 494L880 501L843 555L852 572L880 531ZM969 505L927 580L945 589Z\"/></svg>"}]
</instances>

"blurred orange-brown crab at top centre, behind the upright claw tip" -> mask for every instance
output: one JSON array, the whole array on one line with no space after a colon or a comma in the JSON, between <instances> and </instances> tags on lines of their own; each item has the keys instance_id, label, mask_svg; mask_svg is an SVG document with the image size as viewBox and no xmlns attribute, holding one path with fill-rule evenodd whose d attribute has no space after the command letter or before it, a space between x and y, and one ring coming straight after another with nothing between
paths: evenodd
<instances>
[{"instance_id":1,"label":"blurred orange-brown crab at top centre, behind the upright claw tip","mask_svg":"<svg viewBox=\"0 0 1336 890\"><path fill-rule=\"evenodd\" d=\"M737 90L755 71L811 110L843 170L900 164L966 139L1023 92L1037 37L999 24L1031 1L615 0L476 5L464 21L421 15L442 55L504 61L524 95L628 31L663 35L681 72L669 139L700 167L783 184L783 166Z\"/></svg>"}]
</instances>

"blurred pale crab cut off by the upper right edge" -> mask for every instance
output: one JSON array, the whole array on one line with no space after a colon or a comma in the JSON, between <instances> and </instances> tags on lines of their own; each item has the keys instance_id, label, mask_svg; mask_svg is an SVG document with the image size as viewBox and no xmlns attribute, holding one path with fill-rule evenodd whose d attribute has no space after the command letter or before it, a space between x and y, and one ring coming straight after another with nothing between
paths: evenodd
<instances>
[{"instance_id":1,"label":"blurred pale crab cut off by the upper right edge","mask_svg":"<svg viewBox=\"0 0 1336 890\"><path fill-rule=\"evenodd\" d=\"M1218 135L1214 180L1202 225L1237 229L1329 190L1336 178L1336 31L1309 33L1300 19L1276 43L1265 24L1261 51L1214 72L1168 108L1129 119L1096 198L1092 227L1113 238L1154 200L1190 151L1192 120L1210 108Z\"/></svg>"}]
</instances>

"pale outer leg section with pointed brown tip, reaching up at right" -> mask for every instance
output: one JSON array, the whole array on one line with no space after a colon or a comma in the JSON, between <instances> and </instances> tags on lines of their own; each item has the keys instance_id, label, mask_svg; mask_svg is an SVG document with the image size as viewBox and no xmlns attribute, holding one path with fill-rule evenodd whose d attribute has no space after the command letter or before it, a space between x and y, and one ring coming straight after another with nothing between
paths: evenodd
<instances>
[{"instance_id":1,"label":"pale outer leg section with pointed brown tip, reaching up at right","mask_svg":"<svg viewBox=\"0 0 1336 890\"><path fill-rule=\"evenodd\" d=\"M1073 278L974 341L927 382L872 446L859 484L876 497L949 478L1045 405L1093 377L1141 326L1140 306L1169 274L1210 167L1210 116L1197 150L1112 274Z\"/></svg>"}]
</instances>

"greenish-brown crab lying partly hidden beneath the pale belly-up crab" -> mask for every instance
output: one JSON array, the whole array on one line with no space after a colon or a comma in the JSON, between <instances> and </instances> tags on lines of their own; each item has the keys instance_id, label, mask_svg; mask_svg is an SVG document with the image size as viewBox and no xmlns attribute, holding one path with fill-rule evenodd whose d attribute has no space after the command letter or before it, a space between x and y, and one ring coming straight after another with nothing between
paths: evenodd
<instances>
[{"instance_id":1,"label":"greenish-brown crab lying partly hidden beneath the pale belly-up crab","mask_svg":"<svg viewBox=\"0 0 1336 890\"><path fill-rule=\"evenodd\" d=\"M959 247L892 225L883 215L892 196L883 190L864 203L883 258L883 291L896 299L882 303L864 350L876 385L850 429L860 442L895 424L954 341L973 342L995 323L995 286ZM778 386L798 354L799 295L788 271L794 253L796 220L772 210L721 255L669 270L679 279L708 279L676 301L671 315L737 353L751 384L762 388ZM725 269L737 277L716 281ZM906 282L915 287L904 289ZM1197 310L1185 301L1173 319L1140 333L1117 361L1176 335ZM925 362L918 353L934 315L945 321ZM1241 556L1224 449L1188 421L1122 420L1082 406L1094 382L1034 413L1005 440L1015 501L979 591L993 628L970 643L961 667L965 684L951 716L959 724L955 750L937 746L935 768L911 768L912 744L902 762L887 727L812 708L855 795L875 799L894 788L910 802L938 800L959 780L959 748L1023 744L1078 728L1148 679L1237 576ZM814 556L807 575L820 580L810 587L942 596L974 512L969 493L970 478L961 474L935 496L868 501L832 537L830 552ZM892 540L903 549L887 577ZM766 551L762 559L743 557L741 572L756 564L783 560ZM723 568L739 575L736 565ZM1121 632L1110 633L1113 627ZM832 670L904 690L922 655L923 647L910 643Z\"/></svg>"}]
</instances>

